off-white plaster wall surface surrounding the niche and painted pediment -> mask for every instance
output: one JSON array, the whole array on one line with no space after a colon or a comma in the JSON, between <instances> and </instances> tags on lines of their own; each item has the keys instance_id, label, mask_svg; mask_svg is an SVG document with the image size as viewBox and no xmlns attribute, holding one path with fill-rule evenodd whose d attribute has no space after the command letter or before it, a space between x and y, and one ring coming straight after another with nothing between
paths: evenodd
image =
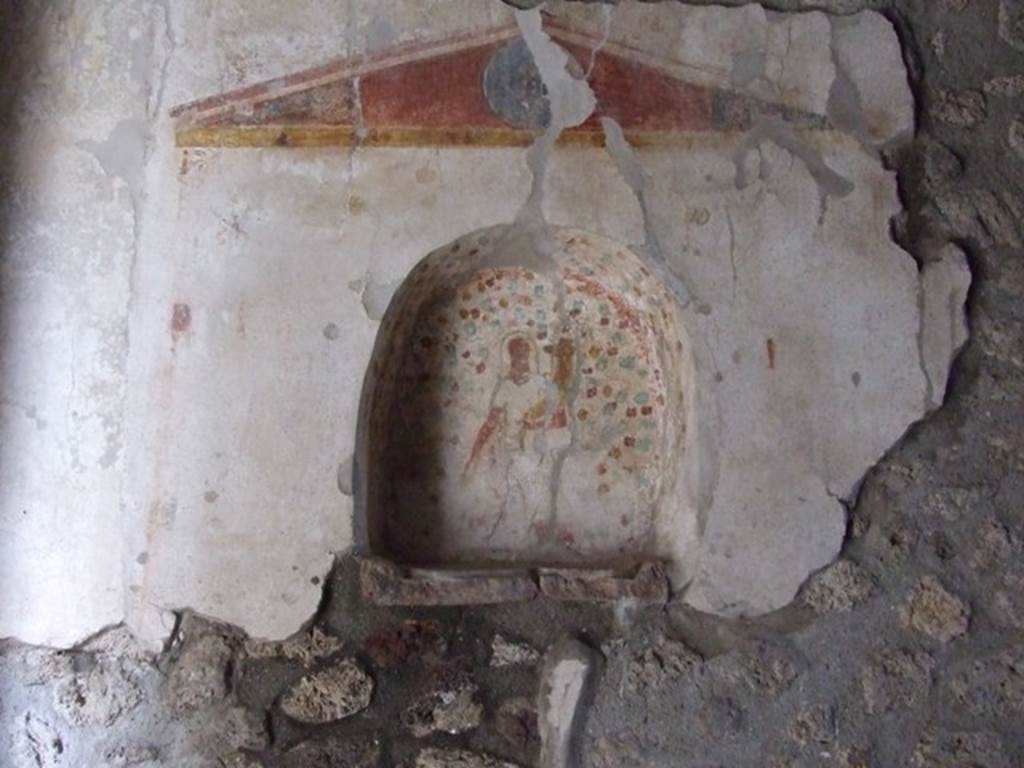
<instances>
[{"instance_id":1,"label":"off-white plaster wall surface surrounding the niche and painted pediment","mask_svg":"<svg viewBox=\"0 0 1024 768\"><path fill-rule=\"evenodd\" d=\"M726 86L749 67L733 32L768 41L793 31L800 44L781 52L763 43L763 77L743 87L825 111L835 69L821 14L688 8L672 26L669 5L626 4L611 39L667 46ZM599 33L608 18L572 12ZM69 645L127 621L156 644L169 611L191 607L280 638L310 617L316 582L350 543L338 470L352 452L377 318L432 249L514 218L531 180L525 153L184 154L168 108L510 19L498 0L300 0L287 12L117 0L39 11L26 33L38 43L25 46L3 94L19 130L0 166L0 637ZM862 41L877 22L844 27L839 44ZM894 36L883 37L880 50L900 67ZM783 87L772 61L814 77ZM867 82L867 63L844 66ZM862 92L892 111L874 140L905 132L907 115L912 125L905 98ZM686 599L727 613L783 604L835 556L838 500L935 404L924 372L944 381L963 341L932 334L922 358L922 284L889 240L895 188L876 159L852 140L812 147L854 182L823 206L805 161L768 139L748 156L755 181L737 189L740 138L642 155L646 211L601 150L556 151L544 183L549 221L655 242L694 297L686 316L702 431L691 438L710 450L687 476L705 539L666 531L666 548L687 553ZM928 283L962 301L968 280L959 268ZM175 305L187 305L187 329L174 331ZM946 319L929 316L934 328Z\"/></svg>"}]
</instances>

